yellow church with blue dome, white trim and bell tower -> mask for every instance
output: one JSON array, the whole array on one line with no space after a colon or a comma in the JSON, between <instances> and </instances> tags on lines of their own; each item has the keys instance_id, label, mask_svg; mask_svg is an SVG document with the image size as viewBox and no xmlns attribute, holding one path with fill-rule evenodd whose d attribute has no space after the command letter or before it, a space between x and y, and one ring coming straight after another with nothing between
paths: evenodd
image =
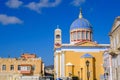
<instances>
[{"instance_id":1,"label":"yellow church with blue dome, white trim and bell tower","mask_svg":"<svg viewBox=\"0 0 120 80\"><path fill-rule=\"evenodd\" d=\"M82 10L70 26L70 43L62 43L62 30L54 32L55 78L77 77L79 80L101 80L104 77L103 54L109 44L93 41L90 22Z\"/></svg>"}]
</instances>

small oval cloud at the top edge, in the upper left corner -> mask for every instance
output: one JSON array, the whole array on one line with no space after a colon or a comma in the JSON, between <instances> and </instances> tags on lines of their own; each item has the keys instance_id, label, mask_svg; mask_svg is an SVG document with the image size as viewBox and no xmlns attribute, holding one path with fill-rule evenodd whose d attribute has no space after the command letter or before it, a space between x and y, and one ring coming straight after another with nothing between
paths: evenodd
<instances>
[{"instance_id":1,"label":"small oval cloud at the top edge, in the upper left corner","mask_svg":"<svg viewBox=\"0 0 120 80\"><path fill-rule=\"evenodd\" d=\"M10 8L18 8L20 7L21 5L23 4L22 1L19 1L19 0L8 0L6 2L6 5Z\"/></svg>"}]
</instances>

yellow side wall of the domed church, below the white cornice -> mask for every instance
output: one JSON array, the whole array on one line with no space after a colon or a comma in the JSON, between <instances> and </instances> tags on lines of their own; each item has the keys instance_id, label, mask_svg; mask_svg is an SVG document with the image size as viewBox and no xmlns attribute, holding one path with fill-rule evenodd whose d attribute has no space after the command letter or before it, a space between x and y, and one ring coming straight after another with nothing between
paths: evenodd
<instances>
[{"instance_id":1,"label":"yellow side wall of the domed church, below the white cornice","mask_svg":"<svg viewBox=\"0 0 120 80\"><path fill-rule=\"evenodd\" d=\"M103 69L103 52L87 52L89 54L91 54L94 58L90 60L90 65L91 63L94 65L90 66L90 72L91 72L91 78L90 80L93 79L100 79L100 75L104 74L104 69ZM86 72L86 64L85 61L87 58L83 58L84 60L82 61L81 56L86 54L85 52L74 52L74 51L65 51L65 64L67 63L72 63L73 64L73 74L72 76L80 76L80 68L83 67L83 72ZM88 59L89 60L89 59ZM67 66L65 65L65 76L68 76L68 70L67 70ZM83 73L83 77L85 78L86 73ZM87 80L87 79L85 79Z\"/></svg>"}]
</instances>

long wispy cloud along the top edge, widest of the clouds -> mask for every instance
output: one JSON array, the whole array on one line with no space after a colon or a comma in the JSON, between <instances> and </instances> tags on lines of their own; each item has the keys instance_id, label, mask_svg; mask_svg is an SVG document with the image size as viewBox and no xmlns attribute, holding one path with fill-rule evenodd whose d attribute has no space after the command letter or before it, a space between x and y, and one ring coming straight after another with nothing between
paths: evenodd
<instances>
[{"instance_id":1,"label":"long wispy cloud along the top edge, widest of the clouds","mask_svg":"<svg viewBox=\"0 0 120 80\"><path fill-rule=\"evenodd\" d=\"M40 13L42 8L56 7L60 2L61 0L55 0L54 2L50 2L49 0L40 0L38 3L31 2L26 5L26 7Z\"/></svg>"}]
</instances>

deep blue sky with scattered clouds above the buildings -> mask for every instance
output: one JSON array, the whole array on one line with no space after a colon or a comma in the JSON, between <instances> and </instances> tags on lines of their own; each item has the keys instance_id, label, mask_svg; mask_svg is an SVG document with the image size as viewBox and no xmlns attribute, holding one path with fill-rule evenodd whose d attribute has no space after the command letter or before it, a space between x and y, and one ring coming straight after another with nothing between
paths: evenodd
<instances>
[{"instance_id":1,"label":"deep blue sky with scattered clouds above the buildings","mask_svg":"<svg viewBox=\"0 0 120 80\"><path fill-rule=\"evenodd\" d=\"M0 57L35 53L45 65L53 64L54 30L69 43L70 25L79 16L93 27L93 39L109 44L109 32L120 16L120 0L0 0Z\"/></svg>"}]
</instances>

